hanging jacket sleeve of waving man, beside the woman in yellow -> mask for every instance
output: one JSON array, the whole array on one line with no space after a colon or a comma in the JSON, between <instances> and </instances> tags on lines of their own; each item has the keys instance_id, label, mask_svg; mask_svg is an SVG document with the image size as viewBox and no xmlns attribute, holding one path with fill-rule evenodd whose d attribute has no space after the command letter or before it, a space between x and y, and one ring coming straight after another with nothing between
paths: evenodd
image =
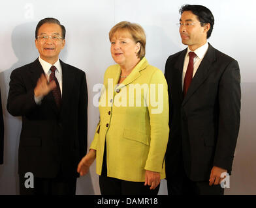
<instances>
[{"instance_id":1,"label":"hanging jacket sleeve of waving man, beside the woman in yellow","mask_svg":"<svg viewBox=\"0 0 256 208\"><path fill-rule=\"evenodd\" d=\"M80 158L84 157L87 151L88 135L88 90L86 84L86 74L83 73L80 85L80 99L78 107L78 134L80 142Z\"/></svg>"}]
</instances>

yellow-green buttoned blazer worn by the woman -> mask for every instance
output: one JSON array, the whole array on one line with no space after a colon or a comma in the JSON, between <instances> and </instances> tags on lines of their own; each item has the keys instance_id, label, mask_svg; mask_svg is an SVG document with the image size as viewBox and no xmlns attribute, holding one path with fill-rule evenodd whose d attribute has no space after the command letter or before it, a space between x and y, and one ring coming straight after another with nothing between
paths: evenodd
<instances>
[{"instance_id":1,"label":"yellow-green buttoned blazer worn by the woman","mask_svg":"<svg viewBox=\"0 0 256 208\"><path fill-rule=\"evenodd\" d=\"M169 132L165 76L145 57L118 85L120 73L116 64L104 74L100 122L90 146L96 150L96 172L101 175L106 139L108 177L142 182L151 170L163 179Z\"/></svg>"}]
</instances>

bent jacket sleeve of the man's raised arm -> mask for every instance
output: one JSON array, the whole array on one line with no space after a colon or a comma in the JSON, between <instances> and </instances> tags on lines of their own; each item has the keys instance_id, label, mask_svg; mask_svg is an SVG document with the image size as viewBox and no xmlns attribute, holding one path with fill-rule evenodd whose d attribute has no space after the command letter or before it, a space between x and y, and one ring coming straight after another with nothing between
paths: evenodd
<instances>
[{"instance_id":1,"label":"bent jacket sleeve of the man's raised arm","mask_svg":"<svg viewBox=\"0 0 256 208\"><path fill-rule=\"evenodd\" d=\"M12 116L27 116L37 108L34 89L27 90L22 73L14 70L10 74L10 89L7 99L7 110Z\"/></svg>"}]
</instances>

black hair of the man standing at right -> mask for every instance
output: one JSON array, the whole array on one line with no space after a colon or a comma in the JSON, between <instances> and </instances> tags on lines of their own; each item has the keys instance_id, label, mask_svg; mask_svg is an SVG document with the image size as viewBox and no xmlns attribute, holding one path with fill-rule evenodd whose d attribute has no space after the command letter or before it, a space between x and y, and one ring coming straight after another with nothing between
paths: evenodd
<instances>
[{"instance_id":1,"label":"black hair of the man standing at right","mask_svg":"<svg viewBox=\"0 0 256 208\"><path fill-rule=\"evenodd\" d=\"M206 23L210 23L211 27L207 32L207 38L210 38L212 30L214 29L214 16L210 9L202 5L183 5L182 8L180 8L180 14L185 11L191 11L193 14L195 14L199 19L201 26Z\"/></svg>"}]
</instances>

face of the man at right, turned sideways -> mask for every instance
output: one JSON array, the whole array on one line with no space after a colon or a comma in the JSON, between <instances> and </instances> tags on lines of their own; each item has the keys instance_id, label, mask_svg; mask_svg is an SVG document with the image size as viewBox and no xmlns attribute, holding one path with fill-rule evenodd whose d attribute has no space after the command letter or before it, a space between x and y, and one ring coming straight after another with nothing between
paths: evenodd
<instances>
[{"instance_id":1,"label":"face of the man at right, turned sideways","mask_svg":"<svg viewBox=\"0 0 256 208\"><path fill-rule=\"evenodd\" d=\"M188 45L192 51L206 44L207 31L210 29L209 23L201 26L199 19L191 11L182 13L180 23L193 23L193 25L180 25L182 44Z\"/></svg>"}]
</instances>

